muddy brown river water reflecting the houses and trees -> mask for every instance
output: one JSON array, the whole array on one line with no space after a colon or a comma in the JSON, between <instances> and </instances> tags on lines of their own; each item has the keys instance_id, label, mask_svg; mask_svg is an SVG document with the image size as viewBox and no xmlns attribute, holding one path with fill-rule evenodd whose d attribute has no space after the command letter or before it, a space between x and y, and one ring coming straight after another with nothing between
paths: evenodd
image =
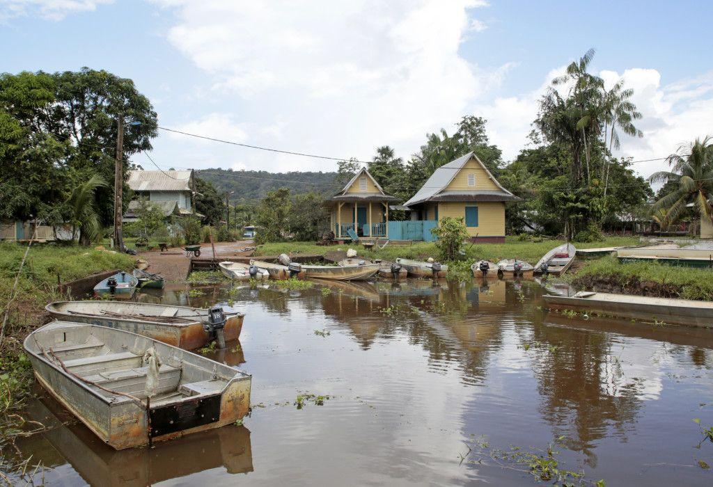
<instances>
[{"instance_id":1,"label":"muddy brown river water reflecting the houses and trees","mask_svg":"<svg viewBox=\"0 0 713 487\"><path fill-rule=\"evenodd\" d=\"M240 342L206 352L252 374L242 426L114 451L40 394L24 414L50 430L6 460L66 486L533 485L495 452L552 444L586 481L713 484L693 421L713 424L711 330L566 318L532 281L195 288L139 299L245 312ZM330 399L298 409L304 393Z\"/></svg>"}]
</instances>

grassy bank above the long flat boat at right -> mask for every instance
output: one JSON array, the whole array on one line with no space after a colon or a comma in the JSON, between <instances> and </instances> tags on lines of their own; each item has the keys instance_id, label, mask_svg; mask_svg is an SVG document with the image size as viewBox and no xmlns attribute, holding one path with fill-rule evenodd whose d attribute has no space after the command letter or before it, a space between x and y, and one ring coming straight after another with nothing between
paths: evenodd
<instances>
[{"instance_id":1,"label":"grassy bank above the long flat boat at right","mask_svg":"<svg viewBox=\"0 0 713 487\"><path fill-rule=\"evenodd\" d=\"M614 256L590 261L570 281L576 288L640 295L713 300L713 273L655 262L619 263Z\"/></svg>"}]
</instances>

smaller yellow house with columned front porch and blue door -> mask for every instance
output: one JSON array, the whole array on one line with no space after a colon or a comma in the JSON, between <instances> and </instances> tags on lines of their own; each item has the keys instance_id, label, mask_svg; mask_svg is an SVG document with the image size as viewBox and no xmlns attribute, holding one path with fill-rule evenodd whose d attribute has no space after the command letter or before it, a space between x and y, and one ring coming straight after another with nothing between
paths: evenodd
<instances>
[{"instance_id":1,"label":"smaller yellow house with columned front porch and blue door","mask_svg":"<svg viewBox=\"0 0 713 487\"><path fill-rule=\"evenodd\" d=\"M389 238L389 203L396 197L386 194L366 168L361 169L327 203L335 239Z\"/></svg>"}]
</instances>

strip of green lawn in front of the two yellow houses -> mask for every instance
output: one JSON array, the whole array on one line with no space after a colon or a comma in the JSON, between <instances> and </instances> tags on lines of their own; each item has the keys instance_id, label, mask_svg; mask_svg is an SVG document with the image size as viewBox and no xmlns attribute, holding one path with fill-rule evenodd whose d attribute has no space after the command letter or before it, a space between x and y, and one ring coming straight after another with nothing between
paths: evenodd
<instances>
[{"instance_id":1,"label":"strip of green lawn in front of the two yellow houses","mask_svg":"<svg viewBox=\"0 0 713 487\"><path fill-rule=\"evenodd\" d=\"M602 241L590 242L588 244L578 244L577 248L596 248L622 245L634 245L638 243L635 237L608 237ZM564 244L561 240L544 240L540 242L519 241L516 237L506 237L504 244L468 244L465 247L465 260L469 263L486 259L488 261L499 261L503 258L518 258L529 263L536 263L540 258L553 247ZM319 253L324 254L335 251L338 248L347 250L354 248L359 256L364 258L381 258L386 261L393 261L397 257L424 259L438 256L438 250L432 242L415 242L411 245L397 246L387 245L383 249L366 249L364 246L356 244L344 244L342 246L318 246L311 242L281 242L277 244L264 244L257 248L256 255L268 256L279 253Z\"/></svg>"}]
</instances>

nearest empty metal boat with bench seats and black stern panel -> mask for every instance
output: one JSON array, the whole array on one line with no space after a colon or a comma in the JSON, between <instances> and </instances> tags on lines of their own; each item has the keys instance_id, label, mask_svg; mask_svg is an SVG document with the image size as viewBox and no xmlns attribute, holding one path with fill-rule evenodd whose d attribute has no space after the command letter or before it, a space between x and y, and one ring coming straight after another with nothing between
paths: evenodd
<instances>
[{"instance_id":1,"label":"nearest empty metal boat with bench seats and black stern panel","mask_svg":"<svg viewBox=\"0 0 713 487\"><path fill-rule=\"evenodd\" d=\"M42 387L118 450L225 426L250 409L250 375L135 333L54 321L24 347Z\"/></svg>"}]
</instances>

